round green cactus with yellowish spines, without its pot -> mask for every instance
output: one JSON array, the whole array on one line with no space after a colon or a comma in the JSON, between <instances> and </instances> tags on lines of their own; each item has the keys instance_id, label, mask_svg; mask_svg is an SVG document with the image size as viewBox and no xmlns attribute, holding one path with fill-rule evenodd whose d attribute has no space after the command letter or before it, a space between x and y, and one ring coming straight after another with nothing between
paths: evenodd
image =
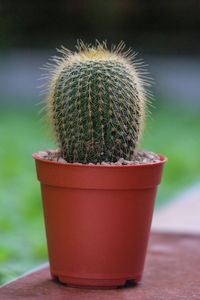
<instances>
[{"instance_id":1,"label":"round green cactus with yellowish spines, without its pot","mask_svg":"<svg viewBox=\"0 0 200 300\"><path fill-rule=\"evenodd\" d=\"M141 136L148 80L135 54L105 43L62 47L50 69L47 113L68 162L131 160Z\"/></svg>"}]
</instances>

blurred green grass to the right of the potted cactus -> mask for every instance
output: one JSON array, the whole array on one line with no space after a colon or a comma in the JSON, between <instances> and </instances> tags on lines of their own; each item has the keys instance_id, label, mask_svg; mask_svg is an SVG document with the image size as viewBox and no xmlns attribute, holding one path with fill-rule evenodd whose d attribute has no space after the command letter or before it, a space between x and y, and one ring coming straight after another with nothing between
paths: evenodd
<instances>
[{"instance_id":1,"label":"blurred green grass to the right of the potted cactus","mask_svg":"<svg viewBox=\"0 0 200 300\"><path fill-rule=\"evenodd\" d=\"M200 108L158 102L147 120L142 147L168 157L158 206L200 178Z\"/></svg>"}]
</instances>

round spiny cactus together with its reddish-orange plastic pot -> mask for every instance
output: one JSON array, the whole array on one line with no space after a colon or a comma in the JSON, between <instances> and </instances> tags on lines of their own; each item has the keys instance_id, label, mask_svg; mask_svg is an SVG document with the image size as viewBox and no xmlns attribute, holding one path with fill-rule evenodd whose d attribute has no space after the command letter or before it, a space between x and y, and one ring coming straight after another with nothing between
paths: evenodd
<instances>
[{"instance_id":1,"label":"round spiny cactus together with its reddish-orange plastic pot","mask_svg":"<svg viewBox=\"0 0 200 300\"><path fill-rule=\"evenodd\" d=\"M116 288L142 278L167 159L114 165L137 157L147 103L145 72L122 50L81 42L47 66L45 108L62 157L33 157L51 275L69 286Z\"/></svg>"}]
</instances>

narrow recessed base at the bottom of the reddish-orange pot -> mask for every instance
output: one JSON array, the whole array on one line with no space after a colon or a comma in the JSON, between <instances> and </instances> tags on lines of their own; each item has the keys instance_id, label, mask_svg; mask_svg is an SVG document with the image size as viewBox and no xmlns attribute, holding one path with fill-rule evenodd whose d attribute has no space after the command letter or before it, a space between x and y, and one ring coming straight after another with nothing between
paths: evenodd
<instances>
[{"instance_id":1,"label":"narrow recessed base at the bottom of the reddish-orange pot","mask_svg":"<svg viewBox=\"0 0 200 300\"><path fill-rule=\"evenodd\" d=\"M116 279L88 279L73 278L64 275L56 275L51 273L51 277L69 287L85 288L85 289L116 289L118 287L136 285L141 280L141 275L134 279L116 278Z\"/></svg>"}]
</instances>

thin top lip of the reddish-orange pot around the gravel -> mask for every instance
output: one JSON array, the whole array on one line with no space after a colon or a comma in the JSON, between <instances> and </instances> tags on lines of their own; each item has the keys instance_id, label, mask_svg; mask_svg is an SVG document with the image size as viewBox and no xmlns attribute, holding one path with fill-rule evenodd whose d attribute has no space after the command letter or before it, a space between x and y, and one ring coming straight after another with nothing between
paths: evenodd
<instances>
[{"instance_id":1,"label":"thin top lip of the reddish-orange pot around the gravel","mask_svg":"<svg viewBox=\"0 0 200 300\"><path fill-rule=\"evenodd\" d=\"M47 150L41 150L41 151L47 151ZM158 154L158 156L160 157L160 161L159 162L153 162L153 163L150 163L150 164L140 164L140 165L120 165L120 166L117 166L117 165L89 165L89 164L81 164L81 163L63 163L63 162L59 162L59 161L52 161L52 160L47 160L47 159L43 159L43 158L40 158L37 156L37 154L39 153L40 151L38 152L35 152L32 154L32 157L35 159L35 160L39 160L41 162L44 162L44 163L47 163L47 164L55 164L55 165L63 165L63 166L70 166L70 167L81 167L81 168L116 168L116 169L121 169L121 168L141 168L141 167L148 167L148 166L159 166L159 165L162 165L164 164L165 162L168 161L168 158L164 155L161 155L161 154Z\"/></svg>"}]
</instances>

